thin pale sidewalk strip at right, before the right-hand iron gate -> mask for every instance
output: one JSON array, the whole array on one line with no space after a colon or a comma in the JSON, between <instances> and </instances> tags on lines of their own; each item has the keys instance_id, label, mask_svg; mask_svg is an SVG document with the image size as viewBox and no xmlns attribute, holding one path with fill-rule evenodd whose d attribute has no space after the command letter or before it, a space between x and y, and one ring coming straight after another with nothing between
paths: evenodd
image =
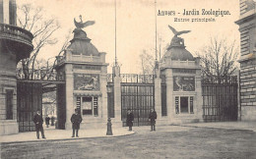
<instances>
[{"instance_id":1,"label":"thin pale sidewalk strip at right, before the right-hand iron gate","mask_svg":"<svg viewBox=\"0 0 256 159\"><path fill-rule=\"evenodd\" d=\"M180 124L182 127L212 128L225 130L246 130L256 132L256 122L213 122L213 123L190 123Z\"/></svg>"}]
</instances>

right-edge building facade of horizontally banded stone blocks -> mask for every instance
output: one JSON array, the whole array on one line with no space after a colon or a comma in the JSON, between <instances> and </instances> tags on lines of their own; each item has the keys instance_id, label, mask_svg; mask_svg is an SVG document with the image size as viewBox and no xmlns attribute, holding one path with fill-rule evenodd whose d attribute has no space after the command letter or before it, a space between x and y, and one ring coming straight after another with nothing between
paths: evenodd
<instances>
[{"instance_id":1,"label":"right-edge building facade of horizontally banded stone blocks","mask_svg":"<svg viewBox=\"0 0 256 159\"><path fill-rule=\"evenodd\" d=\"M240 0L240 105L241 120L256 121L256 2Z\"/></svg>"}]
</instances>

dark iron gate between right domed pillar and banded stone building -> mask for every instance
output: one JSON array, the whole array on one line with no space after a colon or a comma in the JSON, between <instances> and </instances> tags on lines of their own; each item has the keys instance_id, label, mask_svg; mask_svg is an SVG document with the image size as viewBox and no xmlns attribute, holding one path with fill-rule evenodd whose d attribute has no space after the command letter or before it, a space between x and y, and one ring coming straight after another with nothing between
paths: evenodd
<instances>
[{"instance_id":1,"label":"dark iron gate between right domed pillar and banded stone building","mask_svg":"<svg viewBox=\"0 0 256 159\"><path fill-rule=\"evenodd\" d=\"M237 121L236 77L202 78L204 122Z\"/></svg>"}]
</instances>

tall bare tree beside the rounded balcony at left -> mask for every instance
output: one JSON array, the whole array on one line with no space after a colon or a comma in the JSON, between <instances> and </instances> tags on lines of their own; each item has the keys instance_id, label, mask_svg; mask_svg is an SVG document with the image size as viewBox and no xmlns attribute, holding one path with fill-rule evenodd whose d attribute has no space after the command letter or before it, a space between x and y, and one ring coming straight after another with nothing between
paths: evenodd
<instances>
[{"instance_id":1,"label":"tall bare tree beside the rounded balcony at left","mask_svg":"<svg viewBox=\"0 0 256 159\"><path fill-rule=\"evenodd\" d=\"M41 8L33 7L31 4L18 7L18 13L18 26L31 31L33 35L31 56L21 61L25 79L30 79L30 76L34 74L34 65L38 53L42 47L57 42L57 39L53 38L52 34L60 26L54 18L45 18L45 14ZM30 69L32 70L31 72Z\"/></svg>"}]
</instances>

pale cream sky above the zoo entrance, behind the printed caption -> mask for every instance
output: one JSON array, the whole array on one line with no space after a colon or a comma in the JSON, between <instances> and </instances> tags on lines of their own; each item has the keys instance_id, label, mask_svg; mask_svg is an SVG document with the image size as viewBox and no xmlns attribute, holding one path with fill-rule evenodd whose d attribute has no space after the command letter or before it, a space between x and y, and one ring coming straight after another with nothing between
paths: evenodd
<instances>
[{"instance_id":1,"label":"pale cream sky above the zoo entrance, behind the printed caption","mask_svg":"<svg viewBox=\"0 0 256 159\"><path fill-rule=\"evenodd\" d=\"M72 31L74 18L79 21L82 15L83 21L96 21L91 27L86 27L88 37L99 52L106 52L106 62L109 63L108 73L115 54L115 16L114 0L17 0L17 5L32 3L40 6L45 11L45 16L57 19L61 28L54 32L53 36L58 42L53 46L45 46L38 58L48 59L58 54L65 36ZM199 15L183 16L186 11L199 11ZM215 15L202 15L202 9L206 11L228 11L224 17ZM116 53L117 60L121 64L121 74L140 73L139 55L146 50L155 56L156 48L156 21L155 0L116 0ZM159 11L175 12L175 15L158 15ZM239 19L238 0L157 0L157 39L158 49L170 43L173 36L168 25L177 30L191 30L182 34L186 49L195 55L209 43L210 37L224 37L228 40L236 40L239 45L238 26L234 24ZM174 22L174 19L189 19L190 22ZM215 22L194 22L192 19L215 19ZM161 39L161 42L160 42Z\"/></svg>"}]
</instances>

